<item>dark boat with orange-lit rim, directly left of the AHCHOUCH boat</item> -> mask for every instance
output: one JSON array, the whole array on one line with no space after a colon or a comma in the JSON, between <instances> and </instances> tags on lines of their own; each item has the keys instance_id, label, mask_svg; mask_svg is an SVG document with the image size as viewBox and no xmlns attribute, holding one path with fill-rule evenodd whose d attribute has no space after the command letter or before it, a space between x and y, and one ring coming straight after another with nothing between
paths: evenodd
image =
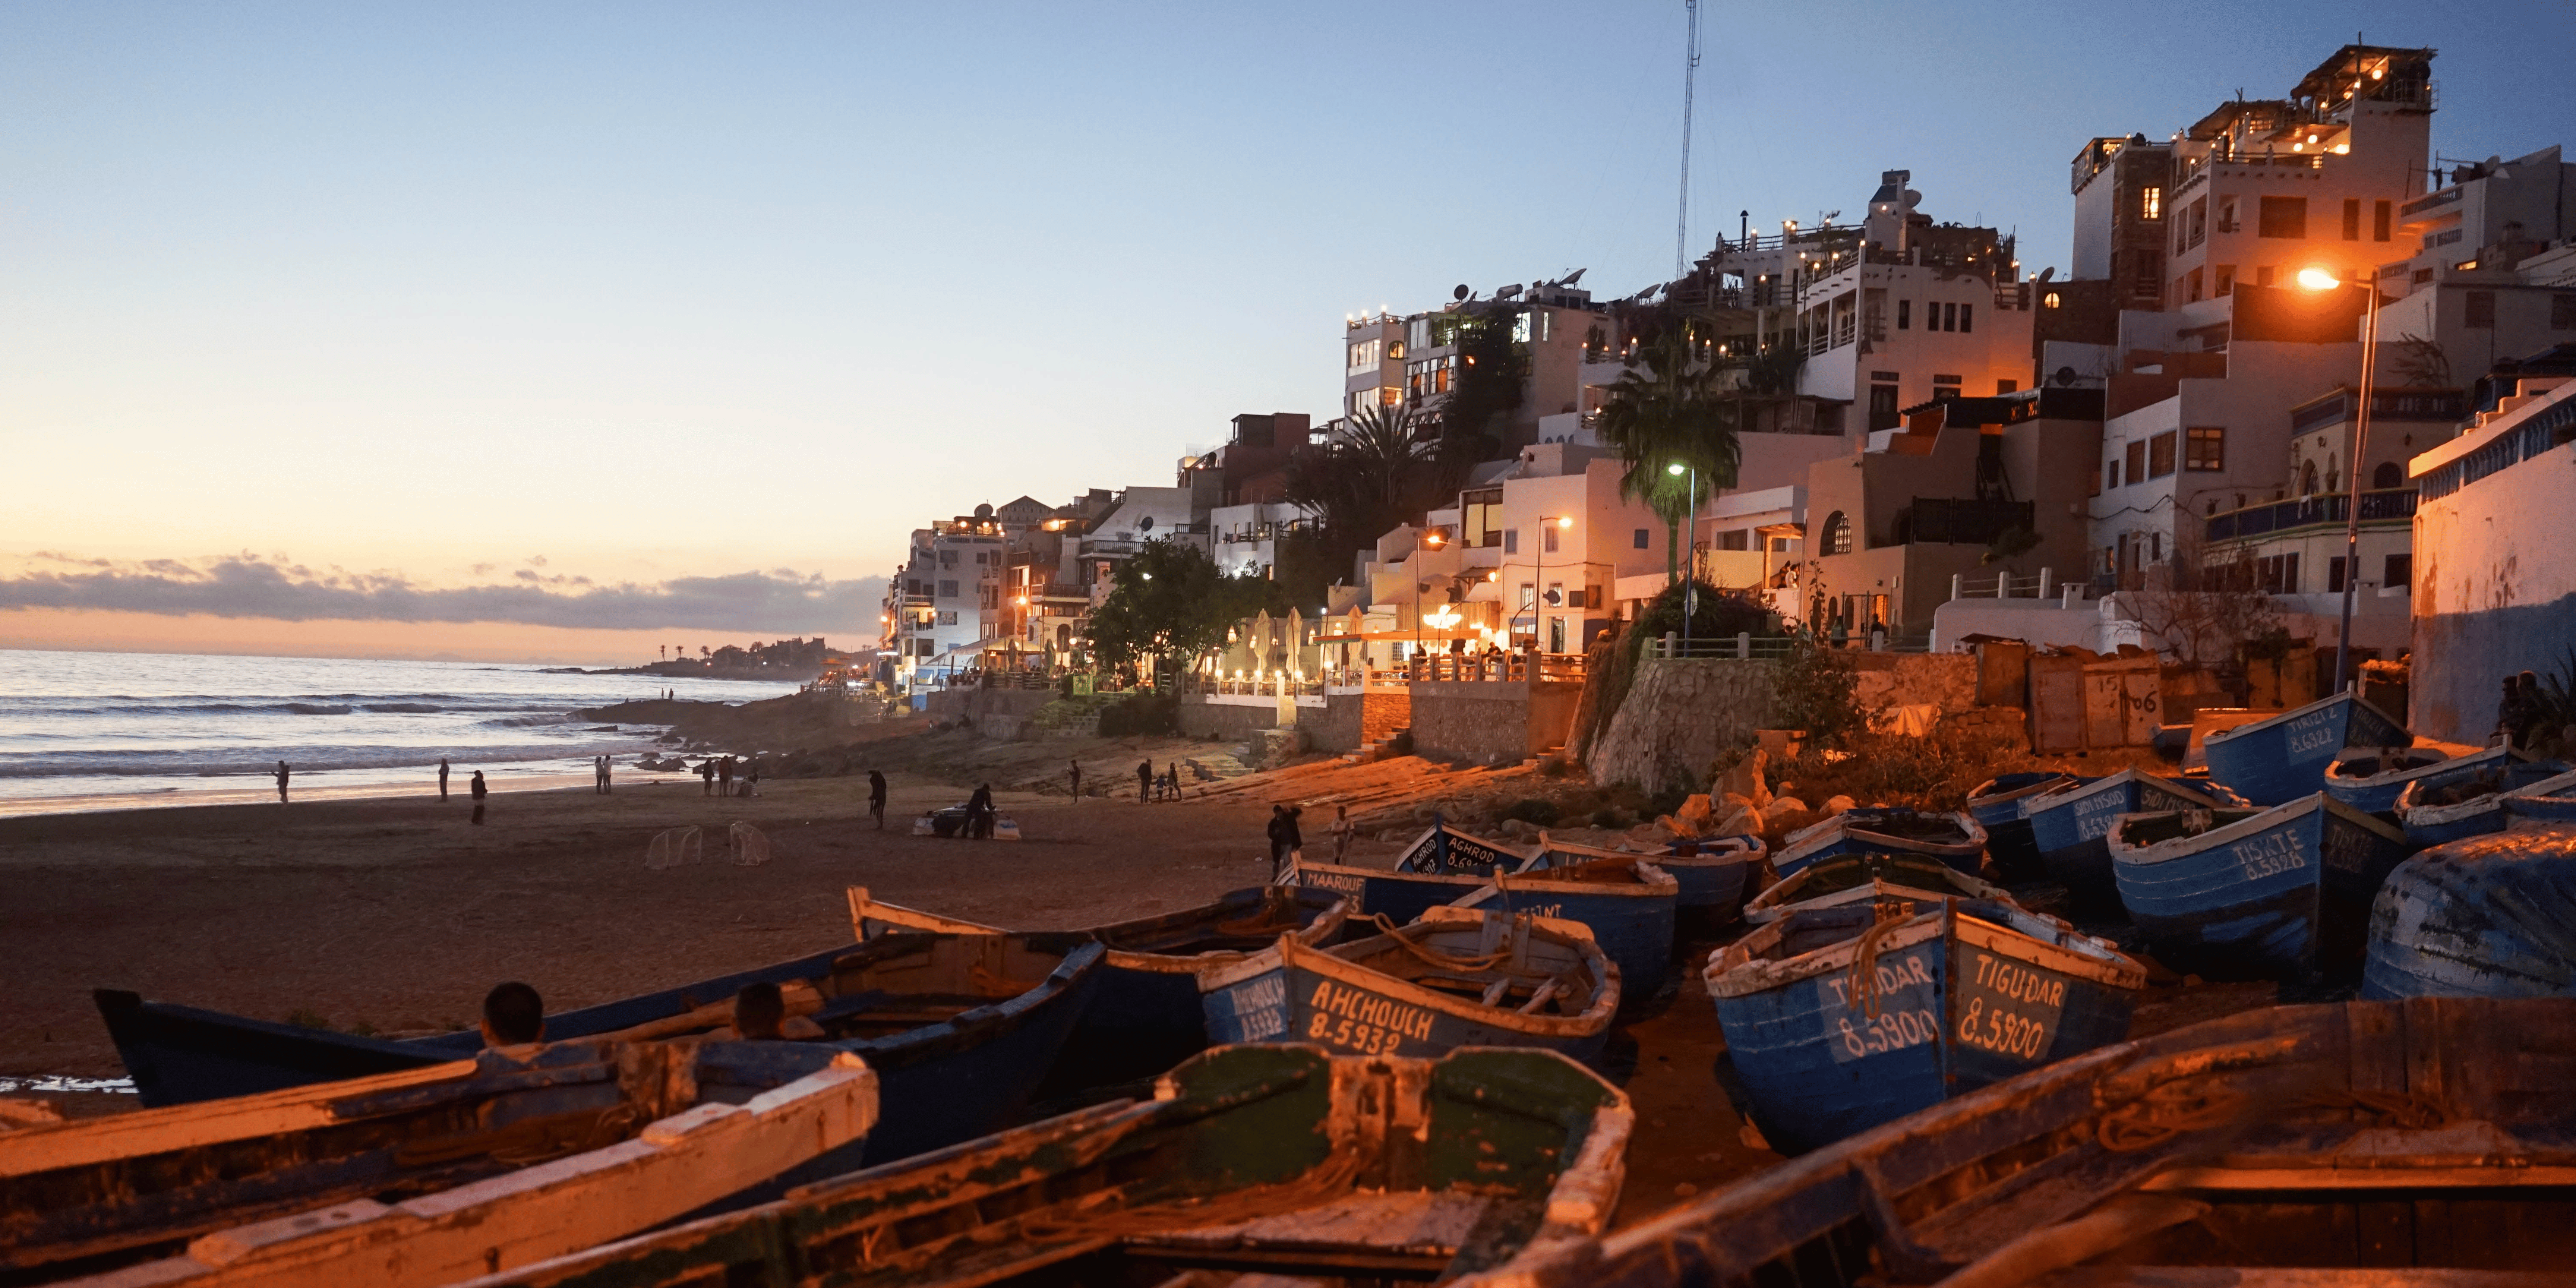
<instances>
[{"instance_id":1,"label":"dark boat with orange-lit rim, directly left of the AHCHOUCH boat","mask_svg":"<svg viewBox=\"0 0 2576 1288\"><path fill-rule=\"evenodd\" d=\"M1033 933L1030 943L1072 948L1100 940L1108 956L1082 1010L1082 1023L1064 1041L1051 1087L1041 1100L1095 1087L1151 1079L1208 1048L1200 1018L1198 979L1296 935L1306 948L1321 948L1342 935L1350 899L1296 886L1239 889L1213 904L1100 925L1092 930ZM989 925L961 922L935 912L886 904L868 886L850 886L850 925L860 940L902 930L948 935L1005 935Z\"/></svg>"}]
</instances>

